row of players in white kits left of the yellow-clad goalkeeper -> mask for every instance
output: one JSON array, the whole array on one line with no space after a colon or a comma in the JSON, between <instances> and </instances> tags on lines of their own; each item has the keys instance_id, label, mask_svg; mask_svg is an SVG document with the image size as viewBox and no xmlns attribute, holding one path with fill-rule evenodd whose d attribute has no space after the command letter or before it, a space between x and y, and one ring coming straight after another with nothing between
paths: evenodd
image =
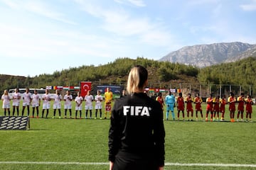
<instances>
[{"instance_id":1,"label":"row of players in white kits left of the yellow-clad goalkeeper","mask_svg":"<svg viewBox=\"0 0 256 170\"><path fill-rule=\"evenodd\" d=\"M60 108L61 108L61 103L60 101L62 100L62 96L60 95L60 91L56 90L55 95L53 98L50 98L49 91L46 89L46 94L43 94L43 96L40 98L38 91L35 90L34 94L31 94L29 92L29 89L26 89L26 92L23 94L20 94L18 92L18 89L15 89L15 92L12 97L9 96L8 91L5 90L4 94L1 96L1 100L3 101L3 108L4 108L4 115L8 113L10 116L10 107L11 107L11 101L12 101L12 106L13 106L13 115L15 114L15 110L17 111L17 115L19 114L18 107L20 105L21 101L21 96L23 99L23 109L22 109L22 116L24 115L25 108L27 108L27 115L29 116L29 107L32 106L33 109L33 115L31 118L35 118L35 111L36 111L36 118L38 118L38 107L41 106L41 100L43 101L43 107L42 107L42 118L44 118L44 112L46 111L46 118L48 118L48 113L50 109L50 101L53 100L53 118L55 118L55 113L58 111L59 113L59 118L60 118ZM70 113L70 118L72 118L72 103L73 101L73 96L70 94L70 91L67 91L65 96L63 97L64 101L64 111L65 111L65 116L64 118L67 118L67 111ZM80 92L78 92L78 96L75 97L75 118L78 118L78 112L80 113L80 119L82 118L82 102L85 101L85 118L87 118L87 113L88 111L90 112L90 117L92 118L92 101L95 101L95 118L97 118L97 111L100 111L100 119L102 119L102 101L103 98L100 95L100 91L97 91L97 95L95 98L92 96L91 91L87 91L87 95L85 98L82 98L80 96Z\"/></svg>"}]
</instances>

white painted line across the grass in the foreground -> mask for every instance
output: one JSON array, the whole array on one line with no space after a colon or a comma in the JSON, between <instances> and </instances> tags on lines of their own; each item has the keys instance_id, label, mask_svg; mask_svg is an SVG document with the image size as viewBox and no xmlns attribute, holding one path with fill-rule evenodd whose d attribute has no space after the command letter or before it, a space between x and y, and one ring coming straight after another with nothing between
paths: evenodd
<instances>
[{"instance_id":1,"label":"white painted line across the grass in the foreground","mask_svg":"<svg viewBox=\"0 0 256 170\"><path fill-rule=\"evenodd\" d=\"M0 162L0 164L59 164L59 165L108 165L108 162ZM226 167L256 167L256 164L182 164L166 162L165 166L226 166Z\"/></svg>"}]
</instances>

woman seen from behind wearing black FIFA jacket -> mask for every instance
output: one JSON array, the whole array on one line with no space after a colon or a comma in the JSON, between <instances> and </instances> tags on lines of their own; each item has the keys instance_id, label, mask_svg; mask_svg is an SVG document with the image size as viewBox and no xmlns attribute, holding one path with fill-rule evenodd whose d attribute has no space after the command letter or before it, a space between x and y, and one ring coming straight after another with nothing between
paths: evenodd
<instances>
[{"instance_id":1,"label":"woman seen from behind wearing black FIFA jacket","mask_svg":"<svg viewBox=\"0 0 256 170\"><path fill-rule=\"evenodd\" d=\"M128 95L114 103L110 118L110 170L164 169L164 121L160 103L144 94L148 72L133 67Z\"/></svg>"}]
</instances>

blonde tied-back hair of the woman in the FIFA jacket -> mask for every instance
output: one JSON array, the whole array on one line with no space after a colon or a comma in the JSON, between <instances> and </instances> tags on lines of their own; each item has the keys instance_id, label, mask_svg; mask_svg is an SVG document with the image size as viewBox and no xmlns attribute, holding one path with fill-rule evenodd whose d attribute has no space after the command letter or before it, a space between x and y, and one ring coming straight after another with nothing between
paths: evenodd
<instances>
[{"instance_id":1,"label":"blonde tied-back hair of the woman in the FIFA jacket","mask_svg":"<svg viewBox=\"0 0 256 170\"><path fill-rule=\"evenodd\" d=\"M138 65L129 72L127 80L127 92L133 94L136 91L144 90L144 84L148 78L147 70Z\"/></svg>"}]
</instances>

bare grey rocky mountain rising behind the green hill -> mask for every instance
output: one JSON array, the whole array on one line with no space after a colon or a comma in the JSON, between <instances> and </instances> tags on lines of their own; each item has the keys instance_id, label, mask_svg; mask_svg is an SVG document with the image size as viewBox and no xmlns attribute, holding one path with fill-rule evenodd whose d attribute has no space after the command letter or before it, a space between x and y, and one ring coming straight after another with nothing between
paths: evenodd
<instances>
[{"instance_id":1,"label":"bare grey rocky mountain rising behind the green hill","mask_svg":"<svg viewBox=\"0 0 256 170\"><path fill-rule=\"evenodd\" d=\"M222 62L235 62L251 56L256 56L256 45L243 42L222 42L182 47L162 57L159 61L208 67Z\"/></svg>"}]
</instances>

